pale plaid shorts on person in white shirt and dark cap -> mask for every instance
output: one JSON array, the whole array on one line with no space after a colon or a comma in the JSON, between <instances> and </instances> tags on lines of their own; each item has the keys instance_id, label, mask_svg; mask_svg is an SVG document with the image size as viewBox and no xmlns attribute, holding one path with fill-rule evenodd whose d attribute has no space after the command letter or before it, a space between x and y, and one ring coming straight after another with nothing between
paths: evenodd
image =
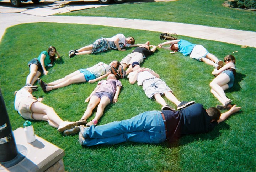
<instances>
[{"instance_id":1,"label":"pale plaid shorts on person in white shirt and dark cap","mask_svg":"<svg viewBox=\"0 0 256 172\"><path fill-rule=\"evenodd\" d=\"M158 93L162 95L168 91L172 92L172 90L160 78L144 80L142 88L148 98L153 98L154 95Z\"/></svg>"}]
</instances>

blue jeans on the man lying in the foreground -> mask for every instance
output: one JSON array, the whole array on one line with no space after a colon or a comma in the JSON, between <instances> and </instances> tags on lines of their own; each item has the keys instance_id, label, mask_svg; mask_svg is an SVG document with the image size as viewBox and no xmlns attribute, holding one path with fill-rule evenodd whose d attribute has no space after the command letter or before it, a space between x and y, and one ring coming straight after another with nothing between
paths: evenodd
<instances>
[{"instance_id":1,"label":"blue jeans on the man lying in the foreground","mask_svg":"<svg viewBox=\"0 0 256 172\"><path fill-rule=\"evenodd\" d=\"M118 144L122 142L161 143L166 139L160 111L146 111L127 120L85 128L82 145Z\"/></svg>"}]
</instances>

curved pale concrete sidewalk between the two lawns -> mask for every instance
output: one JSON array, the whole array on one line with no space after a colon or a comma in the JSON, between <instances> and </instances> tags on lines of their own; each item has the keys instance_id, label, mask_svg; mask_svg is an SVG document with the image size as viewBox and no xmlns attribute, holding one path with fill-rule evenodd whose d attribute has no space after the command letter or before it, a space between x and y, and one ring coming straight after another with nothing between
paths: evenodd
<instances>
[{"instance_id":1,"label":"curved pale concrete sidewalk between the two lawns","mask_svg":"<svg viewBox=\"0 0 256 172\"><path fill-rule=\"evenodd\" d=\"M110 17L75 17L75 16L33 16L22 13L0 13L0 39L5 29L17 24L34 22L77 23L102 25L121 28L132 28L161 32L176 33L193 38L214 40L236 45L256 48L256 32L235 29L224 29L175 22L149 21Z\"/></svg>"}]
</instances>

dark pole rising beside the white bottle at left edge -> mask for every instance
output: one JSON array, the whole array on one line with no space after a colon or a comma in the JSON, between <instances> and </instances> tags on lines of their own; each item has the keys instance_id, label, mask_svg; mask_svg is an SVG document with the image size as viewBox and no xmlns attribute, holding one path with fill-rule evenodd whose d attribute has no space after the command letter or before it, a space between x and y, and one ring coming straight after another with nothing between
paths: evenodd
<instances>
[{"instance_id":1,"label":"dark pole rising beside the white bottle at left edge","mask_svg":"<svg viewBox=\"0 0 256 172\"><path fill-rule=\"evenodd\" d=\"M18 155L11 124L0 88L0 162L14 159Z\"/></svg>"}]
</instances>

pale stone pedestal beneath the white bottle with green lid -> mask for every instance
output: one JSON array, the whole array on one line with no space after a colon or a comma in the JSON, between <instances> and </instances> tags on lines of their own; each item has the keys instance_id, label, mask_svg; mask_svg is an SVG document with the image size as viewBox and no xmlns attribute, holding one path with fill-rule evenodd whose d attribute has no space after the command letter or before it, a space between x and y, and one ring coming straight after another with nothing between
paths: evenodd
<instances>
[{"instance_id":1,"label":"pale stone pedestal beneath the white bottle with green lid","mask_svg":"<svg viewBox=\"0 0 256 172\"><path fill-rule=\"evenodd\" d=\"M13 133L17 147L25 147L26 153L21 153L25 157L11 167L7 167L6 162L0 164L0 172L64 172L64 150L38 136L36 141L27 143L23 128L18 128Z\"/></svg>"}]
</instances>

